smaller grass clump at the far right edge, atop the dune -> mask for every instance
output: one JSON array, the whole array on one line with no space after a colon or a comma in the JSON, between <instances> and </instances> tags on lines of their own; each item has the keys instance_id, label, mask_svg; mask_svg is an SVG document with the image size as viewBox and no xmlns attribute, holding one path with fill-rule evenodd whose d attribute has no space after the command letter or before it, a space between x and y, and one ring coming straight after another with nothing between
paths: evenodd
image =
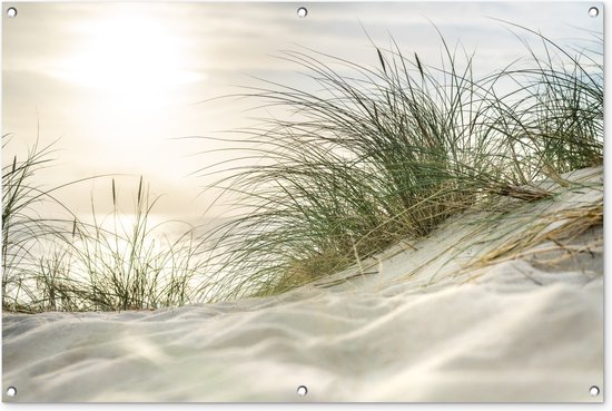
<instances>
[{"instance_id":1,"label":"smaller grass clump at the far right edge, atop the dune","mask_svg":"<svg viewBox=\"0 0 612 411\"><path fill-rule=\"evenodd\" d=\"M495 80L510 78L517 87L504 95L494 125L515 150L519 163L531 169L522 183L603 163L603 37L593 33L595 47L576 50L516 26L540 40L540 55L525 47L529 65L509 68ZM511 104L507 104L509 97ZM503 126L500 127L500 125Z\"/></svg>"}]
</instances>

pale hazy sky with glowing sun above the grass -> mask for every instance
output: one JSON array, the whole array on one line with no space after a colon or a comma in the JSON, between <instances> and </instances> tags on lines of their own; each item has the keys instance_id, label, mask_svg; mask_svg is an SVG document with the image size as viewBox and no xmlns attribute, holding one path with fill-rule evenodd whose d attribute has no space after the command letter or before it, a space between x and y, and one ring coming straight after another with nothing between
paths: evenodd
<instances>
[{"instance_id":1,"label":"pale hazy sky with glowing sun above the grass","mask_svg":"<svg viewBox=\"0 0 612 411\"><path fill-rule=\"evenodd\" d=\"M448 43L475 51L475 68L486 74L525 56L521 40L495 19L571 43L603 31L603 6L591 18L593 4L3 3L2 134L13 139L2 160L21 156L37 138L57 140L57 160L36 177L45 187L112 174L120 198L131 202L142 176L152 195L162 195L160 215L214 218L221 208L203 216L214 198L203 194L210 179L194 172L228 154L214 151L218 143L182 137L228 136L256 124L266 116L260 102L231 96L263 86L261 79L308 87L304 70L279 58L283 50L306 47L376 67L368 37L382 48L393 38L406 55L436 66L437 27ZM300 6L305 18L297 17ZM14 18L7 17L10 7ZM77 214L89 213L93 198L103 213L111 206L110 178L57 196ZM129 204L122 207L129 212Z\"/></svg>"}]
</instances>

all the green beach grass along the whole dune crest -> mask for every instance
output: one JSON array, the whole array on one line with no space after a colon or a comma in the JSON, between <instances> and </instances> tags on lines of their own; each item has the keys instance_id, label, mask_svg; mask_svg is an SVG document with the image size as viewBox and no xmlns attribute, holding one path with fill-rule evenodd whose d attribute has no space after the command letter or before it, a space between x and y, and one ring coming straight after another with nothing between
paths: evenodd
<instances>
[{"instance_id":1,"label":"all the green beach grass along the whole dune crest","mask_svg":"<svg viewBox=\"0 0 612 411\"><path fill-rule=\"evenodd\" d=\"M152 310L274 295L361 266L471 207L553 198L540 180L563 186L564 173L603 162L602 40L574 50L513 29L535 41L525 58L480 77L474 55L442 35L437 66L395 42L373 45L372 66L285 52L309 87L264 80L240 96L287 116L237 130L225 139L239 147L235 160L203 168L226 174L211 188L238 215L205 236L188 226L160 239L157 198L141 177L128 212L115 178L92 177L108 182L113 211L99 216L92 202L93 219L81 221L56 198L60 187L36 186L52 145L32 146L2 168L3 310ZM63 217L46 218L41 203ZM598 209L567 218L601 222Z\"/></svg>"}]
</instances>

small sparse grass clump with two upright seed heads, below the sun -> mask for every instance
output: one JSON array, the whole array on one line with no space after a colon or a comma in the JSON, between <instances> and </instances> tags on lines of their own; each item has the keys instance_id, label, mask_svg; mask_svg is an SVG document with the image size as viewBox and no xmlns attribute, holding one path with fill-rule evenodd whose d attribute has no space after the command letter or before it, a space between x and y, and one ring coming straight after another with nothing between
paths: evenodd
<instances>
[{"instance_id":1,"label":"small sparse grass clump with two upright seed heads, below the sun","mask_svg":"<svg viewBox=\"0 0 612 411\"><path fill-rule=\"evenodd\" d=\"M115 179L111 196L113 212L105 222L98 221L92 209L92 224L75 226L72 265L86 285L87 310L152 310L191 302L194 277L203 274L193 228L164 239L165 224L150 223L157 199L150 199L142 177L134 213L118 208ZM125 222L126 216L130 221ZM107 225L111 229L103 228Z\"/></svg>"}]
</instances>

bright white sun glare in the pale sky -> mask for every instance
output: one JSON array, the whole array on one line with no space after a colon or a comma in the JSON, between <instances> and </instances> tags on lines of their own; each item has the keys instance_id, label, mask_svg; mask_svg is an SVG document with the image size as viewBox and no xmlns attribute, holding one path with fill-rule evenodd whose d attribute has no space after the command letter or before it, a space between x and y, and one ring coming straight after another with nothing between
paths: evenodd
<instances>
[{"instance_id":1,"label":"bright white sun glare in the pale sky","mask_svg":"<svg viewBox=\"0 0 612 411\"><path fill-rule=\"evenodd\" d=\"M81 41L57 74L122 108L148 108L178 87L204 79L186 68L184 39L167 22L113 17L75 27Z\"/></svg>"}]
</instances>

